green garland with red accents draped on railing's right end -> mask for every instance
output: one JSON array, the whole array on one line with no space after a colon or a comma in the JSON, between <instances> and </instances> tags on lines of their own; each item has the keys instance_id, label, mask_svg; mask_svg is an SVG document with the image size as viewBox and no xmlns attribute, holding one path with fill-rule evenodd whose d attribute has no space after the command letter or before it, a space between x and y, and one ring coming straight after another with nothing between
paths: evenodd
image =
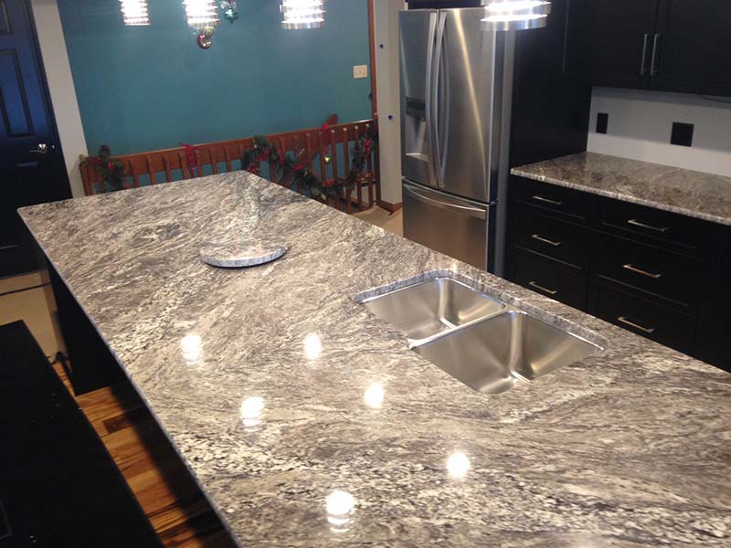
<instances>
[{"instance_id":1,"label":"green garland with red accents draped on railing's right end","mask_svg":"<svg viewBox=\"0 0 731 548\"><path fill-rule=\"evenodd\" d=\"M323 124L321 131L323 137L329 138L329 127ZM296 158L291 158L286 152L281 151L276 142L264 135L255 135L253 146L244 151L241 156L241 169L252 174L260 174L260 163L269 163L270 173L280 173L280 181L291 178L292 184L299 186L304 194L313 198L319 198L324 202L329 197L338 198L342 196L342 190L350 190L357 182L358 176L365 171L368 156L374 151L377 145L378 133L375 126L368 128L365 135L362 135L354 144L350 171L344 178L325 178L313 173L307 165L299 161L302 153ZM330 146L324 146L320 151L325 163L332 162Z\"/></svg>"}]
</instances>

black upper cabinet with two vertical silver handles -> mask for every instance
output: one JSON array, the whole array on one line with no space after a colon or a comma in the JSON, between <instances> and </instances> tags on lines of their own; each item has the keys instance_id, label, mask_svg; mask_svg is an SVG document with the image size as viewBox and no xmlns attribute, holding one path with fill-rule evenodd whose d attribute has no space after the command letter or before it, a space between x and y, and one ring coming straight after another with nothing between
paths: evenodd
<instances>
[{"instance_id":1,"label":"black upper cabinet with two vertical silver handles","mask_svg":"<svg viewBox=\"0 0 731 548\"><path fill-rule=\"evenodd\" d=\"M731 95L731 2L571 0L572 71L597 86Z\"/></svg>"}]
</instances>

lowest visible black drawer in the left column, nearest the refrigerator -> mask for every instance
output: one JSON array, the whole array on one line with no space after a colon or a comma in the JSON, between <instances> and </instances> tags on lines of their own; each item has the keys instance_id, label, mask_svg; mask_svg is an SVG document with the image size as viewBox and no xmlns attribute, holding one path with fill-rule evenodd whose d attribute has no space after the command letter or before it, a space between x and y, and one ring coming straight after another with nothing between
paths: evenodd
<instances>
[{"instance_id":1,"label":"lowest visible black drawer in the left column, nearest the refrigerator","mask_svg":"<svg viewBox=\"0 0 731 548\"><path fill-rule=\"evenodd\" d=\"M515 250L513 281L580 311L587 310L588 279L557 269L543 260Z\"/></svg>"}]
</instances>

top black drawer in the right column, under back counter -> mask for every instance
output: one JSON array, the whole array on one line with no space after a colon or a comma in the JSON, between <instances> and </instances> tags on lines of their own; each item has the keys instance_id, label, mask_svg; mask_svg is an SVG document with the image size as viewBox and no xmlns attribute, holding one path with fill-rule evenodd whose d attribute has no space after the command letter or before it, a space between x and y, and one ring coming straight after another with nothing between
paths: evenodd
<instances>
[{"instance_id":1,"label":"top black drawer in the right column, under back counter","mask_svg":"<svg viewBox=\"0 0 731 548\"><path fill-rule=\"evenodd\" d=\"M621 236L639 237L641 241L696 257L706 256L709 250L713 253L713 227L700 219L652 207L606 200L601 224L605 229Z\"/></svg>"}]
</instances>

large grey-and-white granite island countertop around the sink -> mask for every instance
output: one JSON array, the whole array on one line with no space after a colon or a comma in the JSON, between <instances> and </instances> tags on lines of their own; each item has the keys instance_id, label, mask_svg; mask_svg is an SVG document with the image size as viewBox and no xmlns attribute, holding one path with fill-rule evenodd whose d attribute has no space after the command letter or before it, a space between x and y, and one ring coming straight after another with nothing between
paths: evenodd
<instances>
[{"instance_id":1,"label":"large grey-and-white granite island countertop around the sink","mask_svg":"<svg viewBox=\"0 0 731 548\"><path fill-rule=\"evenodd\" d=\"M241 546L729 544L719 369L243 172L21 216ZM434 270L607 350L474 392L354 299Z\"/></svg>"}]
</instances>

